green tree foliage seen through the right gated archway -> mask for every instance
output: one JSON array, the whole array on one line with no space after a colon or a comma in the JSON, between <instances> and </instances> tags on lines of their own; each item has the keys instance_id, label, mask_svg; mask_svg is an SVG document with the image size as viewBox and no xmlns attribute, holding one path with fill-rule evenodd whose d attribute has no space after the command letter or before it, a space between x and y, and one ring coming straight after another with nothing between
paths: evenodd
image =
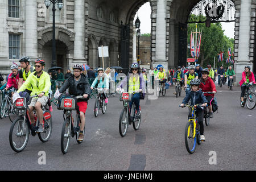
<instances>
[{"instance_id":1,"label":"green tree foliage seen through the right gated archway","mask_svg":"<svg viewBox=\"0 0 256 182\"><path fill-rule=\"evenodd\" d=\"M232 63L226 64L226 59L228 58L228 48L234 50L234 39L228 38L224 35L224 30L222 30L221 23L211 23L210 27L205 27L205 23L197 24L197 31L202 32L201 38L201 48L199 64L202 67L206 67L207 64L211 64L213 67L214 57L215 57L215 67L220 67L222 63L224 67L228 67ZM196 23L188 24L188 45L190 45L191 31L196 31ZM195 38L194 38L195 39ZM220 63L218 62L218 54L220 51L224 52L224 60ZM187 56L191 57L190 49L188 49Z\"/></svg>"}]
</instances>

